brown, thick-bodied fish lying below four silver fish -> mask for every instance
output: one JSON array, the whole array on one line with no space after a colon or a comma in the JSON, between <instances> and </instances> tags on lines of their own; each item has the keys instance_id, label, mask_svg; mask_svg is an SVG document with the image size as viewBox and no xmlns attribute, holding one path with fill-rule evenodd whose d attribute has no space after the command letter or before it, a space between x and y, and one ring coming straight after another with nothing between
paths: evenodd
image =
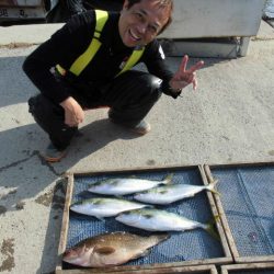
<instances>
[{"instance_id":1,"label":"brown, thick-bodied fish lying below four silver fish","mask_svg":"<svg viewBox=\"0 0 274 274\"><path fill-rule=\"evenodd\" d=\"M141 237L129 232L111 232L80 241L65 251L62 261L83 267L111 267L145 256L150 248L169 239L168 233Z\"/></svg>"}]
</instances>

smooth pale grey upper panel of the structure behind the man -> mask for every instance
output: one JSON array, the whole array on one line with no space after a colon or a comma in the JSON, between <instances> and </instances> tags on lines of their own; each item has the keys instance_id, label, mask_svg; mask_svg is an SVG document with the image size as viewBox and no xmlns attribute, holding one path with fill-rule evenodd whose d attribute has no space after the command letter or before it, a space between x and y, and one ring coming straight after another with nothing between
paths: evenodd
<instances>
[{"instance_id":1,"label":"smooth pale grey upper panel of the structure behind the man","mask_svg":"<svg viewBox=\"0 0 274 274\"><path fill-rule=\"evenodd\" d=\"M256 35L265 0L174 0L173 23L161 38Z\"/></svg>"}]
</instances>

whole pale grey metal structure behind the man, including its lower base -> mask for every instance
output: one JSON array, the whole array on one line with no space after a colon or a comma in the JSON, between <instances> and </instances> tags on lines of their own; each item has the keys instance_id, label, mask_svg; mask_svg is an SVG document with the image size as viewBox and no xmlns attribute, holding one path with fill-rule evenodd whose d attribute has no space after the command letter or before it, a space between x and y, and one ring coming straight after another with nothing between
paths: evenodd
<instances>
[{"instance_id":1,"label":"whole pale grey metal structure behind the man, including its lower base","mask_svg":"<svg viewBox=\"0 0 274 274\"><path fill-rule=\"evenodd\" d=\"M265 0L174 0L172 25L160 36L169 55L246 56Z\"/></svg>"}]
</instances>

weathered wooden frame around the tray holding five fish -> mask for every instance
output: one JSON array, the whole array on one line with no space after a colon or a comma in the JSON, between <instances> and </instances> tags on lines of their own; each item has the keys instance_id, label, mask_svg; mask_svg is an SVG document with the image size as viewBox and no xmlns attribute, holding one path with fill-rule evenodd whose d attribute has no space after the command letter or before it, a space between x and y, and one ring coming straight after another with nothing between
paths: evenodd
<instances>
[{"instance_id":1,"label":"weathered wooden frame around the tray holding five fish","mask_svg":"<svg viewBox=\"0 0 274 274\"><path fill-rule=\"evenodd\" d=\"M71 204L71 198L73 195L73 186L76 184L76 178L87 178L87 176L101 176L101 175L129 175L132 173L136 174L146 174L148 172L184 172L189 170L195 170L199 174L199 180L202 184L207 184L207 178L205 174L204 169L202 165L191 165L191 167L167 167L167 168L159 168L159 169L137 169L137 170L112 170L112 171L95 171L90 173L73 173L73 174L67 174L68 175L68 183L67 183L67 193L66 193L66 202L65 202L65 208L64 208L64 216L62 216L62 226L61 226L61 235L60 235L60 241L59 241L59 249L58 249L58 256L59 261L56 266L56 273L178 273L179 271L181 273L184 273L187 270L190 272L190 266L195 266L193 270L196 272L193 273L199 273L201 265L213 265L213 264L229 264L232 262L232 255L229 250L229 246L225 236L224 228L221 226L220 221L216 221L216 229L219 235L219 244L222 250L222 256L220 258L209 258L209 259L201 259L201 260L193 260L193 261L182 261L182 262L168 262L168 263L153 263L153 264L144 264L144 265L122 265L122 266L115 266L110 269L71 269L67 270L64 269L61 263L61 254L67 248L67 240L68 240L68 229L69 229L69 221L70 221L70 214L69 214L69 207ZM206 195L206 199L209 205L209 209L212 212L213 216L218 215L218 210L216 208L214 198L212 193L204 192ZM198 194L201 195L201 194ZM201 266L202 267L202 266ZM216 273L215 269L213 266L204 266L201 270L208 270L210 272L208 273ZM162 271L162 272L161 272ZM168 271L168 272L164 272ZM204 272L203 272L204 273Z\"/></svg>"}]
</instances>

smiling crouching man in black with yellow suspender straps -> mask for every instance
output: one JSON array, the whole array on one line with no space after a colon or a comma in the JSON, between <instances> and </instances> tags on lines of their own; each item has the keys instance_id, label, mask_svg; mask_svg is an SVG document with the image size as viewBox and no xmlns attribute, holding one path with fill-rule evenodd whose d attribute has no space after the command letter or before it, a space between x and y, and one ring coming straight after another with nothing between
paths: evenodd
<instances>
[{"instance_id":1,"label":"smiling crouching man in black with yellow suspender straps","mask_svg":"<svg viewBox=\"0 0 274 274\"><path fill-rule=\"evenodd\" d=\"M197 88L197 62L184 56L171 72L157 35L171 23L172 0L125 0L121 13L88 11L75 15L24 61L23 69L41 93L30 112L48 134L42 152L49 162L66 153L84 110L109 106L110 121L147 134L144 119L162 93L178 98L187 84ZM147 72L132 68L144 62Z\"/></svg>"}]
</instances>

